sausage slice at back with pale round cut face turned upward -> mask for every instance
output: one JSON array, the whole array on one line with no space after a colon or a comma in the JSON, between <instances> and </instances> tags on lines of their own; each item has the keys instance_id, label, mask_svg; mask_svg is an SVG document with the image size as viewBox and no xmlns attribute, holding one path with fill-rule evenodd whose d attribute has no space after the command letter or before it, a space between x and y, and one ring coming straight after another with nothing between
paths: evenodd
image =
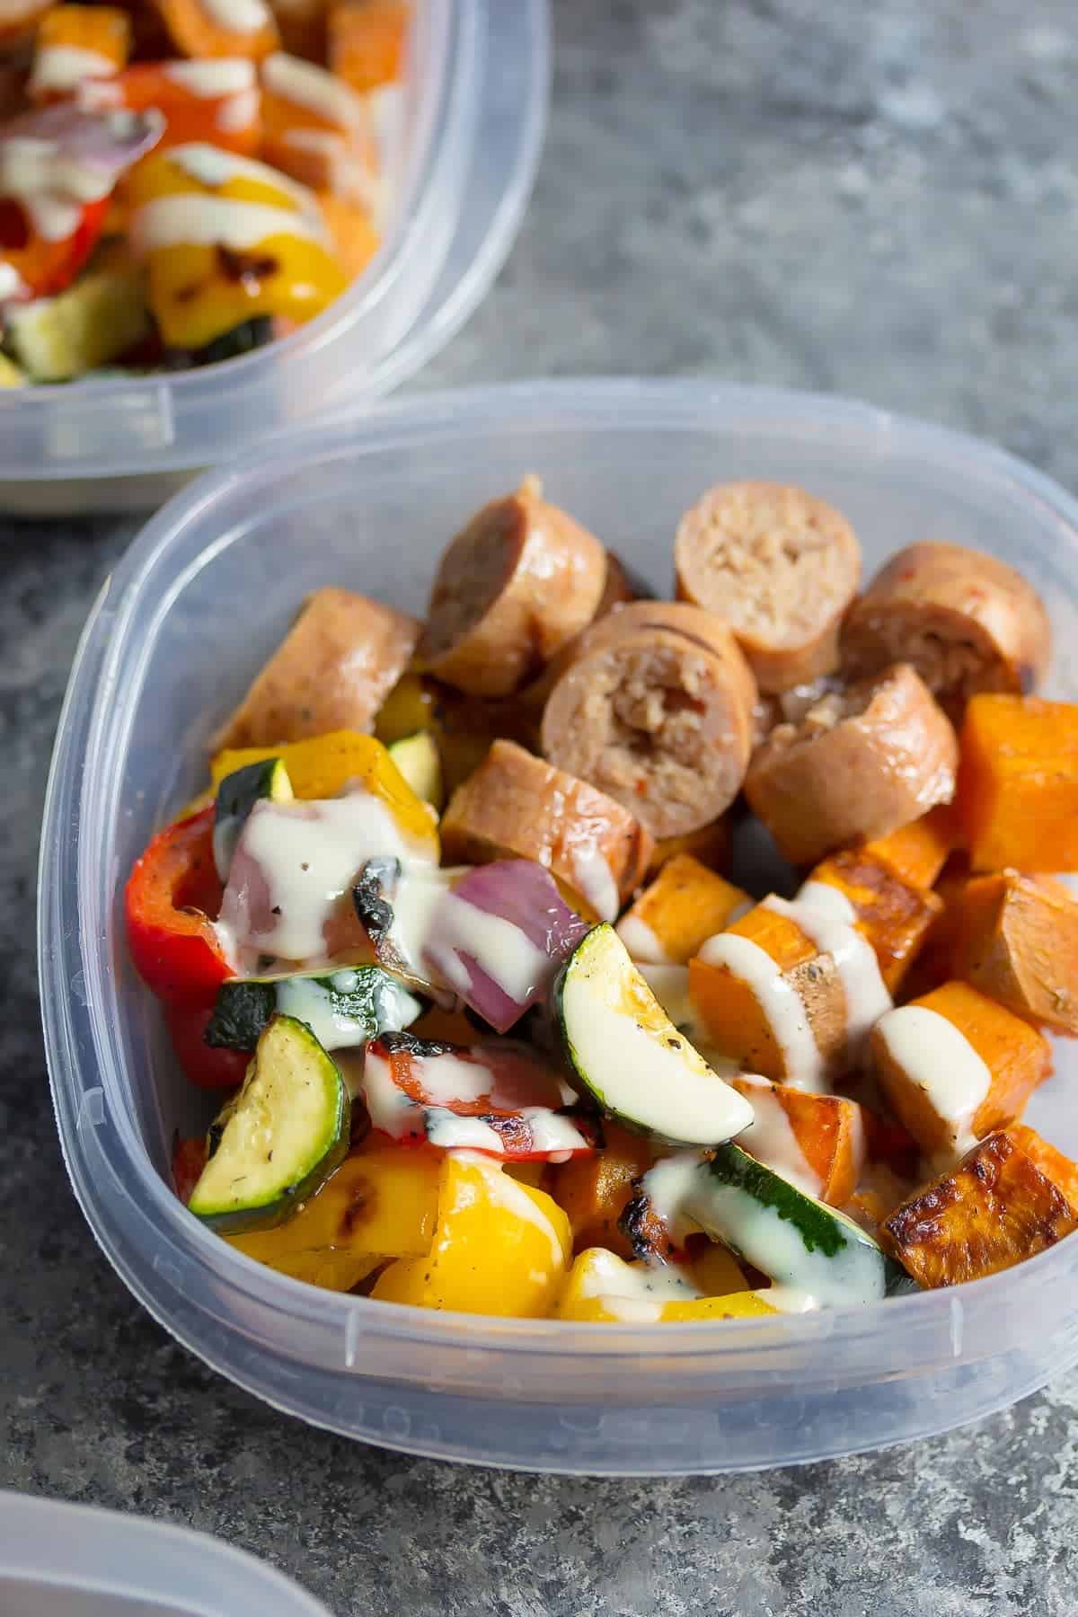
<instances>
[{"instance_id":1,"label":"sausage slice at back with pale round cut face turned upward","mask_svg":"<svg viewBox=\"0 0 1078 1617\"><path fill-rule=\"evenodd\" d=\"M731 626L763 692L839 666L861 547L823 500L782 483L719 483L680 519L674 568L679 597Z\"/></svg>"}]
</instances>

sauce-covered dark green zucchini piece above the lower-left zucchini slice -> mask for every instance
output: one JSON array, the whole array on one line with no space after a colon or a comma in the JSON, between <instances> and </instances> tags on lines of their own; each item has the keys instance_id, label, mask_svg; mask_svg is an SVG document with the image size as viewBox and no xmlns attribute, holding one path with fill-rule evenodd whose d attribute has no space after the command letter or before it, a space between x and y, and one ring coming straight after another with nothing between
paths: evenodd
<instances>
[{"instance_id":1,"label":"sauce-covered dark green zucchini piece above the lower-left zucchini slice","mask_svg":"<svg viewBox=\"0 0 1078 1617\"><path fill-rule=\"evenodd\" d=\"M381 965L236 978L217 991L205 1043L217 1049L254 1049L278 1012L305 1022L328 1049L346 1049L411 1027L422 1015L423 1001Z\"/></svg>"}]
</instances>

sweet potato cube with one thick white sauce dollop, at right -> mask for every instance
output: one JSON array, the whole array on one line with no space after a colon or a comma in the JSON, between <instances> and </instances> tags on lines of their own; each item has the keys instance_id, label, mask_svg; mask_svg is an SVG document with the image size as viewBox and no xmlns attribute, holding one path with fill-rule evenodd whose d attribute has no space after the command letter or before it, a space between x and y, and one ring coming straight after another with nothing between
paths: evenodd
<instances>
[{"instance_id":1,"label":"sweet potato cube with one thick white sauce dollop, at right","mask_svg":"<svg viewBox=\"0 0 1078 1617\"><path fill-rule=\"evenodd\" d=\"M1052 1066L1036 1028L958 982L887 1011L870 1049L900 1122L941 1159L1021 1117Z\"/></svg>"}]
</instances>

